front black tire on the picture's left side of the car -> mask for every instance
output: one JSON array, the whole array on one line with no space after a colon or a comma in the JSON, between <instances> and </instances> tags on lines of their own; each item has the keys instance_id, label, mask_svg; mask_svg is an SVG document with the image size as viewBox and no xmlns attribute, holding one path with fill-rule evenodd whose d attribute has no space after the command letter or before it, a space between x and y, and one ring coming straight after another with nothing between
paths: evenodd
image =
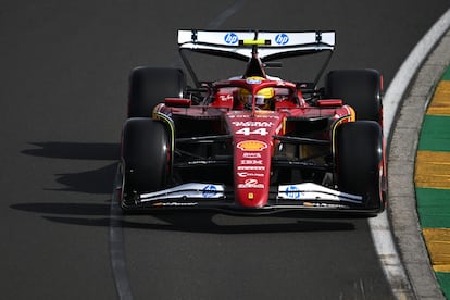
<instances>
[{"instance_id":1,"label":"front black tire on the picture's left side of the car","mask_svg":"<svg viewBox=\"0 0 450 300\"><path fill-rule=\"evenodd\" d=\"M171 178L170 136L162 122L133 117L122 137L123 198L163 189Z\"/></svg>"}]
</instances>

